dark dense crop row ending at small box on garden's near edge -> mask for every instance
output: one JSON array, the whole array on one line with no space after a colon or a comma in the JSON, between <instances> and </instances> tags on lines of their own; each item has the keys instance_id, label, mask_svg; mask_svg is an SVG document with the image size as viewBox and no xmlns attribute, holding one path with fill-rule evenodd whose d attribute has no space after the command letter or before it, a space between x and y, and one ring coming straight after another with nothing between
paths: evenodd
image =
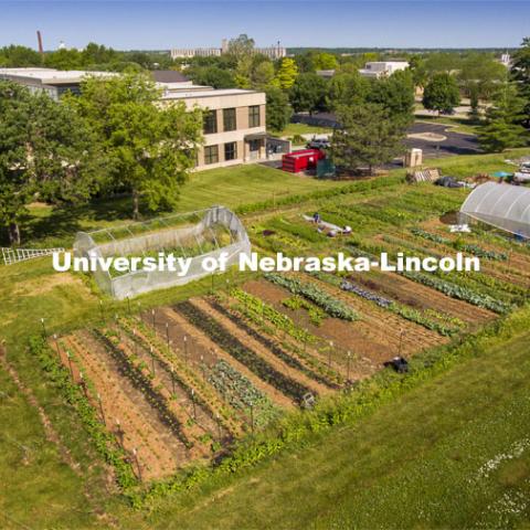
<instances>
[{"instance_id":1,"label":"dark dense crop row ending at small box on garden's near edge","mask_svg":"<svg viewBox=\"0 0 530 530\"><path fill-rule=\"evenodd\" d=\"M268 362L245 347L235 337L223 328L204 311L189 301L183 301L177 309L197 328L204 331L220 348L227 351L234 359L245 364L259 379L279 390L285 395L300 402L309 389L299 382L284 375L274 369Z\"/></svg>"}]
</instances>

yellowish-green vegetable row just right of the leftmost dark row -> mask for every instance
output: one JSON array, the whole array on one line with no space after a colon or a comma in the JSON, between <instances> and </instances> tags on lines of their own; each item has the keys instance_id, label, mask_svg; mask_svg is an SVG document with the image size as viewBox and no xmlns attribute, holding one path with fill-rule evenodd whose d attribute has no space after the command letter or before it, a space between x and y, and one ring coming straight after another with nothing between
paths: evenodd
<instances>
[{"instance_id":1,"label":"yellowish-green vegetable row just right of the leftmost dark row","mask_svg":"<svg viewBox=\"0 0 530 530\"><path fill-rule=\"evenodd\" d=\"M157 356L165 370L174 378L176 383L182 388L190 400L209 411L210 415L219 418L224 428L232 435L241 433L239 422L233 417L233 412L225 406L211 389L174 351L157 335L156 330L142 320L134 317L123 317L120 327L129 337L145 343L147 349Z\"/></svg>"}]
</instances>

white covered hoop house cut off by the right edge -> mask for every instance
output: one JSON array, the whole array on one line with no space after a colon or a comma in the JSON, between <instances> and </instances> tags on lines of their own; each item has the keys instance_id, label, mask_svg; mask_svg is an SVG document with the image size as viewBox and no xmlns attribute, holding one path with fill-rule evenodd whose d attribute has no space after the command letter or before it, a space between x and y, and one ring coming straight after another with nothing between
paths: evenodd
<instances>
[{"instance_id":1,"label":"white covered hoop house cut off by the right edge","mask_svg":"<svg viewBox=\"0 0 530 530\"><path fill-rule=\"evenodd\" d=\"M530 189L486 182L469 193L459 211L459 222L470 220L530 237Z\"/></svg>"}]
</instances>

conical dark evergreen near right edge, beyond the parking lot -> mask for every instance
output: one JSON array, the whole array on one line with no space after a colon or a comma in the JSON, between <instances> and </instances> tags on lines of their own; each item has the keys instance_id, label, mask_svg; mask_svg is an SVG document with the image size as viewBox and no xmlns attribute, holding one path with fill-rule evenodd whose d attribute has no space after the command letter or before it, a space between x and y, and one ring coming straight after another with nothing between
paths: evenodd
<instances>
[{"instance_id":1,"label":"conical dark evergreen near right edge, beyond the parking lot","mask_svg":"<svg viewBox=\"0 0 530 530\"><path fill-rule=\"evenodd\" d=\"M527 146L529 132L520 125L523 117L523 99L512 83L504 83L486 112L486 123L478 135L480 147L489 152L500 152L509 147Z\"/></svg>"}]
</instances>

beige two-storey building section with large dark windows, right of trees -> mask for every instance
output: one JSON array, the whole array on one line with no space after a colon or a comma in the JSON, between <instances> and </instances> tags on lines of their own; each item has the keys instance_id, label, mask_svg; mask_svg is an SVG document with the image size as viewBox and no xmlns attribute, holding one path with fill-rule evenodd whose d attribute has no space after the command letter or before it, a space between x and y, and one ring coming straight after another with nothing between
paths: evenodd
<instances>
[{"instance_id":1,"label":"beige two-storey building section with large dark windows, right of trees","mask_svg":"<svg viewBox=\"0 0 530 530\"><path fill-rule=\"evenodd\" d=\"M197 169L210 169L266 158L265 94L263 92L212 87L166 91L166 104L183 102L187 108L204 110L204 145Z\"/></svg>"}]
</instances>

